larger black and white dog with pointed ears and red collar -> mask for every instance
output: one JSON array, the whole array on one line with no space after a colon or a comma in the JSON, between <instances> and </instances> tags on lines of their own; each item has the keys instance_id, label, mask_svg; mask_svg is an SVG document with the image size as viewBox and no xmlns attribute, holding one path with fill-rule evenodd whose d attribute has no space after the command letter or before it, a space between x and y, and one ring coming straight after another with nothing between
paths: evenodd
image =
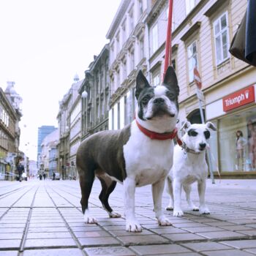
<instances>
[{"instance_id":1,"label":"larger black and white dog with pointed ears and red collar","mask_svg":"<svg viewBox=\"0 0 256 256\"><path fill-rule=\"evenodd\" d=\"M154 211L159 225L171 225L162 212L165 179L173 165L173 138L178 116L178 81L173 67L168 67L161 86L152 87L138 72L135 96L138 107L135 120L120 130L97 132L78 148L81 206L86 223L97 223L89 213L88 200L94 177L102 184L99 200L110 217L113 211L108 197L116 181L124 184L126 230L140 232L135 218L135 187L152 185Z\"/></svg>"}]
</instances>

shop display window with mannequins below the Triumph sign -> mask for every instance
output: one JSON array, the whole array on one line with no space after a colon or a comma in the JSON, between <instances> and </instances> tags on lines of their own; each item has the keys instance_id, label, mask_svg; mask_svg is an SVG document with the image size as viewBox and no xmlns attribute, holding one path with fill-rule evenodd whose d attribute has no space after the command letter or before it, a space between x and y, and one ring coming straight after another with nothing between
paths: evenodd
<instances>
[{"instance_id":1,"label":"shop display window with mannequins below the Triumph sign","mask_svg":"<svg viewBox=\"0 0 256 256\"><path fill-rule=\"evenodd\" d=\"M219 162L222 171L256 170L256 108L219 120Z\"/></svg>"}]
</instances>

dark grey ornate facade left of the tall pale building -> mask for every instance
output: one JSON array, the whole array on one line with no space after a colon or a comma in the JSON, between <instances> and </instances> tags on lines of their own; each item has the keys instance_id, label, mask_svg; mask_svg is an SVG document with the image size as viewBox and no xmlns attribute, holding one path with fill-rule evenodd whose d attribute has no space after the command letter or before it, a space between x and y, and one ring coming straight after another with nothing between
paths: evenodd
<instances>
[{"instance_id":1,"label":"dark grey ornate facade left of the tall pale building","mask_svg":"<svg viewBox=\"0 0 256 256\"><path fill-rule=\"evenodd\" d=\"M109 87L109 45L105 45L85 72L79 93L81 97L81 140L89 135L108 129Z\"/></svg>"}]
</instances>

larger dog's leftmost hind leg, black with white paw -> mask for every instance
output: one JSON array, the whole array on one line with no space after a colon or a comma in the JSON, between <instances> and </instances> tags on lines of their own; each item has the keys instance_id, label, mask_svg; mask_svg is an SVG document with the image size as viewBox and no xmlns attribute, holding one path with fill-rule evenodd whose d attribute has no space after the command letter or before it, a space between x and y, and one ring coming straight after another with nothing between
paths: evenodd
<instances>
[{"instance_id":1,"label":"larger dog's leftmost hind leg, black with white paw","mask_svg":"<svg viewBox=\"0 0 256 256\"><path fill-rule=\"evenodd\" d=\"M79 173L79 182L82 195L80 203L82 206L84 222L97 223L97 219L91 217L88 208L89 196L91 194L92 185L94 184L94 171L80 170Z\"/></svg>"}]
</instances>

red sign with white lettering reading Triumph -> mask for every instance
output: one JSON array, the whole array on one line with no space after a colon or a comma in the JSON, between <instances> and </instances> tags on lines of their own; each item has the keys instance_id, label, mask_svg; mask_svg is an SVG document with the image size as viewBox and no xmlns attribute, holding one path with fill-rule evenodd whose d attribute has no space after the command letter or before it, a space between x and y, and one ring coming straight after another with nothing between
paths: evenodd
<instances>
[{"instance_id":1,"label":"red sign with white lettering reading Triumph","mask_svg":"<svg viewBox=\"0 0 256 256\"><path fill-rule=\"evenodd\" d=\"M249 86L245 89L241 89L222 99L223 110L225 112L251 102L255 102L255 86Z\"/></svg>"}]
</instances>

